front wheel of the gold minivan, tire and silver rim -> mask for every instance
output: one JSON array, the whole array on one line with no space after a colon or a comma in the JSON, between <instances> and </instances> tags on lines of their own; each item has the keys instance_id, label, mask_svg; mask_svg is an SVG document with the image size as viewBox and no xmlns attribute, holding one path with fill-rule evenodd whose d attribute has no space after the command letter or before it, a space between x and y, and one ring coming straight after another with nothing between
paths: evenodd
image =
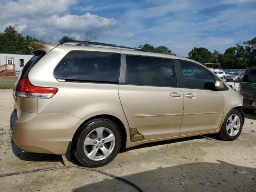
<instances>
[{"instance_id":1,"label":"front wheel of the gold minivan, tire and silver rim","mask_svg":"<svg viewBox=\"0 0 256 192\"><path fill-rule=\"evenodd\" d=\"M235 140L240 135L243 124L241 112L237 109L232 109L222 124L222 128L218 134L219 138L225 141Z\"/></svg>"}]
</instances>

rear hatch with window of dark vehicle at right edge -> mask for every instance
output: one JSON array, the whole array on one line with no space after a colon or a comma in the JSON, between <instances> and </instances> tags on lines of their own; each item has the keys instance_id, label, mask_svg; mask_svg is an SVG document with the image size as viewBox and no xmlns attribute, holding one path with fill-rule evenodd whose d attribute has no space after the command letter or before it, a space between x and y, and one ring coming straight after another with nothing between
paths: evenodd
<instances>
[{"instance_id":1,"label":"rear hatch with window of dark vehicle at right edge","mask_svg":"<svg viewBox=\"0 0 256 192\"><path fill-rule=\"evenodd\" d=\"M240 93L244 97L256 99L256 68L246 70L240 82Z\"/></svg>"}]
</instances>

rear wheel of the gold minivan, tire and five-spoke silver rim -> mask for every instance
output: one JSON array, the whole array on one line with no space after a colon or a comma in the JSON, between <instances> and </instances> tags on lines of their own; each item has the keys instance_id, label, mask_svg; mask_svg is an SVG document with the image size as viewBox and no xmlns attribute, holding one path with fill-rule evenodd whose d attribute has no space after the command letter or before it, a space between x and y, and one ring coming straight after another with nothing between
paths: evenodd
<instances>
[{"instance_id":1,"label":"rear wheel of the gold minivan, tire and five-spoke silver rim","mask_svg":"<svg viewBox=\"0 0 256 192\"><path fill-rule=\"evenodd\" d=\"M80 127L74 155L86 167L110 163L121 147L118 126L111 120L97 118Z\"/></svg>"}]
</instances>

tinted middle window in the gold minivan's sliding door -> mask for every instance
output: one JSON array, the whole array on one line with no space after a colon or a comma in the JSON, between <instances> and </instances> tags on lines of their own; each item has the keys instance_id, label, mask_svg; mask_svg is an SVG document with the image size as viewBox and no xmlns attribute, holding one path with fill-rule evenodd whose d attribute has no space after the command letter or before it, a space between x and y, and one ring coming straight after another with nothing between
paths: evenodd
<instances>
[{"instance_id":1,"label":"tinted middle window in the gold minivan's sliding door","mask_svg":"<svg viewBox=\"0 0 256 192\"><path fill-rule=\"evenodd\" d=\"M126 84L176 87L176 71L170 59L127 56Z\"/></svg>"}]
</instances>

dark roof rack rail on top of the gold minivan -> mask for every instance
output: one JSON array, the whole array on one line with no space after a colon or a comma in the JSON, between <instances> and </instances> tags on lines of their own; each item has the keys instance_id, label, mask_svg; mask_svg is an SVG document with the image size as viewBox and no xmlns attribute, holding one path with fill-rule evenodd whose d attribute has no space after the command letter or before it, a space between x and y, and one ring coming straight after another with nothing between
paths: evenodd
<instances>
[{"instance_id":1,"label":"dark roof rack rail on top of the gold minivan","mask_svg":"<svg viewBox=\"0 0 256 192\"><path fill-rule=\"evenodd\" d=\"M126 48L126 49L138 50L138 51L157 53L154 50L148 50L148 49L144 49L144 48L141 48L141 47L123 46L123 45L115 45L115 44L100 43L100 42L90 42L90 41L72 40L72 41L65 41L65 42L60 43L60 44L62 44L62 45L79 45L79 44L100 45L100 46L118 47L118 48Z\"/></svg>"}]
</instances>

